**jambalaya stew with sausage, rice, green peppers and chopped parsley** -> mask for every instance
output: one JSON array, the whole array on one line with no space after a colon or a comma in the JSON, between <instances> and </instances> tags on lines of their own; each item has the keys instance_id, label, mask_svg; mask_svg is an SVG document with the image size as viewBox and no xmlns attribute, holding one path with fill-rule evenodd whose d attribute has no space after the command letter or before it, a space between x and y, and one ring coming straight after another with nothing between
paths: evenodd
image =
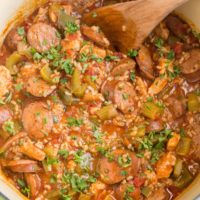
<instances>
[{"instance_id":1,"label":"jambalaya stew with sausage, rice, green peppers and chopped parsley","mask_svg":"<svg viewBox=\"0 0 200 200\"><path fill-rule=\"evenodd\" d=\"M6 37L1 169L32 200L174 199L200 170L200 34L170 15L125 55L81 23L88 2Z\"/></svg>"}]
</instances>

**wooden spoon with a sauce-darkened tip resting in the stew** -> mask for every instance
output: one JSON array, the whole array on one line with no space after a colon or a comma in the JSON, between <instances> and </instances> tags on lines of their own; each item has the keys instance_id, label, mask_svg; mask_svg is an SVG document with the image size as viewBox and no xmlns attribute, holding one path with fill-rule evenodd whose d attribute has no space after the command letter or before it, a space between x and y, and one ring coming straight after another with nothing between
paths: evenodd
<instances>
[{"instance_id":1,"label":"wooden spoon with a sauce-darkened tip resting in the stew","mask_svg":"<svg viewBox=\"0 0 200 200\"><path fill-rule=\"evenodd\" d=\"M188 0L136 0L98 8L83 16L97 25L112 45L124 53L137 49L170 12Z\"/></svg>"}]
</instances>

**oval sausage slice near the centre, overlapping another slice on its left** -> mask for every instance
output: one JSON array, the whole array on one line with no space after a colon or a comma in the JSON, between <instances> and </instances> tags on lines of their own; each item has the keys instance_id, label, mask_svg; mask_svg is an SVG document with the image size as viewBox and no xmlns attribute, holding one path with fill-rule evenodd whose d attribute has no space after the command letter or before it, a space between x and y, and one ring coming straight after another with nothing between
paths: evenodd
<instances>
[{"instance_id":1,"label":"oval sausage slice near the centre, overlapping another slice on its left","mask_svg":"<svg viewBox=\"0 0 200 200\"><path fill-rule=\"evenodd\" d=\"M119 81L114 89L113 102L123 113L133 111L136 104L136 92L133 85L126 81Z\"/></svg>"}]
</instances>

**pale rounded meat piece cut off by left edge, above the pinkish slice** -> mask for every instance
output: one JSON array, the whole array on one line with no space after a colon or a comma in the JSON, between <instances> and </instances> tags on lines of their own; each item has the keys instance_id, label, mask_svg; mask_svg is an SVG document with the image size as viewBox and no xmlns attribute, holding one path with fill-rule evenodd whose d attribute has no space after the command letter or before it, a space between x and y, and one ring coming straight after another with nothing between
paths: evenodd
<instances>
[{"instance_id":1,"label":"pale rounded meat piece cut off by left edge, above the pinkish slice","mask_svg":"<svg viewBox=\"0 0 200 200\"><path fill-rule=\"evenodd\" d=\"M9 70L0 65L0 98L2 98L12 87L12 77Z\"/></svg>"}]
</instances>

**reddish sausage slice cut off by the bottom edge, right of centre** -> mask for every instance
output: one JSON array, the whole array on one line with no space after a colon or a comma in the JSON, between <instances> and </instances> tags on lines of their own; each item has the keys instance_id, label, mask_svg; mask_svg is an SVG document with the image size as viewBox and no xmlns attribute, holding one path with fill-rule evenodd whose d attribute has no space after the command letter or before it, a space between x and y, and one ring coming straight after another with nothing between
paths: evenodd
<instances>
[{"instance_id":1,"label":"reddish sausage slice cut off by the bottom edge, right of centre","mask_svg":"<svg viewBox=\"0 0 200 200\"><path fill-rule=\"evenodd\" d=\"M132 192L129 192L128 188L133 188ZM140 200L141 192L139 188L135 188L133 184L120 184L116 189L116 195L118 200L124 200L126 196L129 196L131 199Z\"/></svg>"}]
</instances>

